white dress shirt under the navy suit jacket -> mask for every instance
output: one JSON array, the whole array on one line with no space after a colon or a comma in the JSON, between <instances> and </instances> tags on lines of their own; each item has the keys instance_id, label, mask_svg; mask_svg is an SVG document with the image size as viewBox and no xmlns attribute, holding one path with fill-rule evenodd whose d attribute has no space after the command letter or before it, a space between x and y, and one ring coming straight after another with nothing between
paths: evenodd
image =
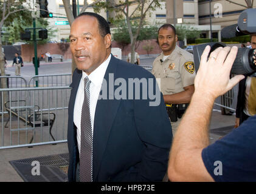
<instances>
[{"instance_id":1,"label":"white dress shirt under the navy suit jacket","mask_svg":"<svg viewBox=\"0 0 256 194\"><path fill-rule=\"evenodd\" d=\"M74 107L74 124L77 126L77 145L78 151L80 153L80 139L81 139L81 109L83 106L83 100L85 96L85 78L88 76L91 81L90 84L90 115L91 115L91 125L92 132L94 130L94 116L97 101L100 94L100 89L102 87L103 78L106 73L106 69L108 68L109 61L111 59L111 55L108 56L108 59L104 61L102 64L97 67L89 76L87 73L83 72L83 76L80 80L80 84L77 90L77 96L75 98L75 107ZM92 133L93 134L93 133Z\"/></svg>"}]
</instances>

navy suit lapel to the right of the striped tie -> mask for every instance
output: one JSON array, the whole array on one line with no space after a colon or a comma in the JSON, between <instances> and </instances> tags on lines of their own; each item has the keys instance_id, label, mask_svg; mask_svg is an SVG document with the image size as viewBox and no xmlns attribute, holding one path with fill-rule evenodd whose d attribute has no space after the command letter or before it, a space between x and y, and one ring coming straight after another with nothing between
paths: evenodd
<instances>
[{"instance_id":1,"label":"navy suit lapel to the right of the striped tie","mask_svg":"<svg viewBox=\"0 0 256 194\"><path fill-rule=\"evenodd\" d=\"M95 110L94 117L94 136L93 136L93 179L97 178L99 173L100 164L103 154L108 142L109 133L112 127L112 122L116 118L117 109L120 104L120 100L109 99L109 85L114 86L114 83L109 83L109 73L113 73L114 80L116 78L117 62L114 56L111 56L108 68L104 79L107 82L108 99L99 99ZM103 88L102 88L103 89ZM114 95L114 93L112 93Z\"/></svg>"}]
</instances>

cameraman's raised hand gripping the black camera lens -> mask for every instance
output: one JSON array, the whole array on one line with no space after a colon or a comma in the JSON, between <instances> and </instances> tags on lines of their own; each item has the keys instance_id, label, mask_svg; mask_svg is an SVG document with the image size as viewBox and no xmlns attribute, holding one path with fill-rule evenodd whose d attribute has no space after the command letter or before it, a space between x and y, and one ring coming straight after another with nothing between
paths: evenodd
<instances>
[{"instance_id":1,"label":"cameraman's raised hand gripping the black camera lens","mask_svg":"<svg viewBox=\"0 0 256 194\"><path fill-rule=\"evenodd\" d=\"M196 73L195 93L201 92L201 95L206 96L206 98L215 99L232 89L244 78L244 75L229 78L237 50L237 47L232 47L231 50L230 47L219 47L210 54L207 61L210 52L210 46L207 45L202 53L199 70Z\"/></svg>"}]
</instances>

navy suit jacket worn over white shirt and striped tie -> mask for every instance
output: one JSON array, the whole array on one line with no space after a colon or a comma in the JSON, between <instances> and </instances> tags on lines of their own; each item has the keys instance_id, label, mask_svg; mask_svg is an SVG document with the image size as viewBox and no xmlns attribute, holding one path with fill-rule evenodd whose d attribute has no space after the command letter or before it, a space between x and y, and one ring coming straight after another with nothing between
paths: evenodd
<instances>
[{"instance_id":1,"label":"navy suit jacket worn over white shirt and striped tie","mask_svg":"<svg viewBox=\"0 0 256 194\"><path fill-rule=\"evenodd\" d=\"M156 79L147 70L111 56L104 77L108 82L108 91L109 85L111 87L109 73L114 74L114 80L123 78L126 83L128 78L151 78L156 84ZM69 181L75 181L79 160L73 113L81 76L81 71L76 69L69 101ZM119 85L114 85L115 91L117 87ZM173 136L162 94L160 105L150 107L149 101L111 97L97 101L93 132L93 181L162 181Z\"/></svg>"}]
</instances>

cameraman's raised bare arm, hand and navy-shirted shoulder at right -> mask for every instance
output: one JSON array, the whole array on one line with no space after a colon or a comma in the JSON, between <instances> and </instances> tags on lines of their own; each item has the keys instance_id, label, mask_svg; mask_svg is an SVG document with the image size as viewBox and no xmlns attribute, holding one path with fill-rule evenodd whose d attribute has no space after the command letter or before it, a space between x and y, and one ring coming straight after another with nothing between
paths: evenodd
<instances>
[{"instance_id":1,"label":"cameraman's raised bare arm, hand and navy-shirted shoulder at right","mask_svg":"<svg viewBox=\"0 0 256 194\"><path fill-rule=\"evenodd\" d=\"M256 116L209 146L213 102L244 78L243 75L229 78L237 50L237 47L231 50L219 47L208 61L210 46L202 53L195 93L171 147L168 164L171 181L256 181Z\"/></svg>"}]
</instances>

